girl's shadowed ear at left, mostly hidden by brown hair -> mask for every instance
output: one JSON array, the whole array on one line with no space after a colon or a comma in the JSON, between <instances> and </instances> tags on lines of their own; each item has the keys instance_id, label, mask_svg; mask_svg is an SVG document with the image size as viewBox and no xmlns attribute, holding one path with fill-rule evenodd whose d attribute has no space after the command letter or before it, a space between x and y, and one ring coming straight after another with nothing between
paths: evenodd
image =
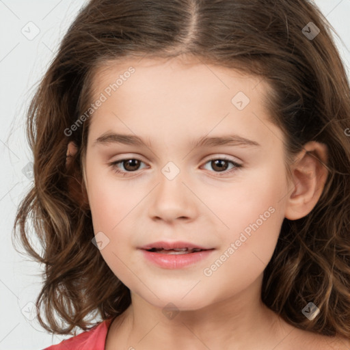
<instances>
[{"instance_id":1,"label":"girl's shadowed ear at left, mostly hidden by brown hair","mask_svg":"<svg viewBox=\"0 0 350 350\"><path fill-rule=\"evenodd\" d=\"M68 173L68 191L72 200L77 202L81 208L89 209L89 200L85 185L79 172L79 165L75 159L78 148L74 142L69 142L66 154L66 169Z\"/></svg>"}]
</instances>

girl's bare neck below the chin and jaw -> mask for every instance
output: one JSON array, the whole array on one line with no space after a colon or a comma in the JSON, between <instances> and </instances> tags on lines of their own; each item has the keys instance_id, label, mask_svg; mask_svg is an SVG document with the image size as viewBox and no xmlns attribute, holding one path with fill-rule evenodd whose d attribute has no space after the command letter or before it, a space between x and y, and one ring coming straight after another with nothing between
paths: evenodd
<instances>
[{"instance_id":1,"label":"girl's bare neck below the chin and jaw","mask_svg":"<svg viewBox=\"0 0 350 350\"><path fill-rule=\"evenodd\" d=\"M131 293L131 306L114 329L123 334L126 349L163 349L164 344L168 350L248 350L262 344L273 349L291 327L262 303L261 282L259 278L239 295L198 310L179 310L167 316L161 308Z\"/></svg>"}]
</instances>

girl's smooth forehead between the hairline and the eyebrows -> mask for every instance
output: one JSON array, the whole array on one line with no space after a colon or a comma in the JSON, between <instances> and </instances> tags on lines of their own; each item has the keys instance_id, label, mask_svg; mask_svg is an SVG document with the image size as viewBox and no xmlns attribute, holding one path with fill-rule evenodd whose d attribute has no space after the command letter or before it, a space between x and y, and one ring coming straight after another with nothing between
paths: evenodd
<instances>
[{"instance_id":1,"label":"girl's smooth forehead between the hairline and the eyebrows","mask_svg":"<svg viewBox=\"0 0 350 350\"><path fill-rule=\"evenodd\" d=\"M161 137L159 131L196 138L232 129L242 137L282 140L269 122L265 96L270 87L261 77L199 59L105 62L94 74L92 91L93 100L105 96L91 120L94 135L121 128L150 139L157 133Z\"/></svg>"}]
</instances>

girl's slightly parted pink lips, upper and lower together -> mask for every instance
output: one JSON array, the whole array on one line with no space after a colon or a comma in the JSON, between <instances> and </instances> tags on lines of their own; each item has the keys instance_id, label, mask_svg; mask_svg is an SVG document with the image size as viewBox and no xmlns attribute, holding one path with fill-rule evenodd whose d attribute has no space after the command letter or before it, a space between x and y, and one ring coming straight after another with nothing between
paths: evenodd
<instances>
[{"instance_id":1,"label":"girl's slightly parted pink lips, upper and lower together","mask_svg":"<svg viewBox=\"0 0 350 350\"><path fill-rule=\"evenodd\" d=\"M187 254L162 254L157 252L149 252L149 249L152 248L165 248L165 249L174 249L174 248L189 248L189 249L202 249L202 252L193 252ZM200 260L204 260L209 255L212 254L215 248L206 248L200 245L195 245L189 242L176 241L176 242L165 242L159 241L155 243L150 243L140 247L139 250L142 250L144 258L148 261L163 267L163 269L182 269L190 265L196 264Z\"/></svg>"}]
</instances>

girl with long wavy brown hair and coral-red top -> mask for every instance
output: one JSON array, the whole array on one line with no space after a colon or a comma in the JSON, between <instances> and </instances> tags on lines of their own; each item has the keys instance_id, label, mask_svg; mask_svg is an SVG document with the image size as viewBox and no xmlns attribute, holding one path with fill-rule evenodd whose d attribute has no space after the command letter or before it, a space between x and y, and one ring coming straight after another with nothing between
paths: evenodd
<instances>
[{"instance_id":1,"label":"girl with long wavy brown hair and coral-red top","mask_svg":"<svg viewBox=\"0 0 350 350\"><path fill-rule=\"evenodd\" d=\"M14 224L40 324L72 335L47 349L349 349L330 28L306 0L87 3L29 107Z\"/></svg>"}]
</instances>

